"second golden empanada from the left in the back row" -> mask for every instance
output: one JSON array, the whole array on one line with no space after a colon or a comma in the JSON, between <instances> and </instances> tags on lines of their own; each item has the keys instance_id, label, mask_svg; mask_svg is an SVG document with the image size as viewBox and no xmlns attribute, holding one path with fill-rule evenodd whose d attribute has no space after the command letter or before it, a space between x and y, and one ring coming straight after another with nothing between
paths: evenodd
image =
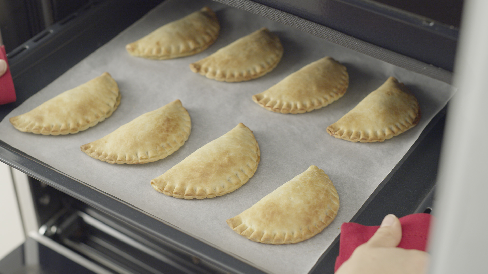
<instances>
[{"instance_id":1,"label":"second golden empanada from the left in the back row","mask_svg":"<svg viewBox=\"0 0 488 274\"><path fill-rule=\"evenodd\" d=\"M217 81L242 82L272 71L282 55L278 36L262 28L190 64L190 69Z\"/></svg>"}]
</instances>

